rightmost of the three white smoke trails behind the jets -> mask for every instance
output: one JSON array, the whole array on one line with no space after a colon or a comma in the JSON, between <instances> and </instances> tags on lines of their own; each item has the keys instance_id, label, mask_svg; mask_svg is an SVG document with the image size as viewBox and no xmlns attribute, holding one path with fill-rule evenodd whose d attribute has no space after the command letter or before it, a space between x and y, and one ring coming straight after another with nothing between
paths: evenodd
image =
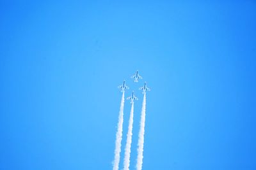
<instances>
[{"instance_id":1,"label":"rightmost of the three white smoke trails behind the jets","mask_svg":"<svg viewBox=\"0 0 256 170\"><path fill-rule=\"evenodd\" d=\"M140 120L140 132L138 141L138 158L137 158L137 170L142 169L143 163L143 146L144 146L144 133L145 133L145 117L146 117L146 93L143 97L142 109L141 109L141 120Z\"/></svg>"}]
</instances>

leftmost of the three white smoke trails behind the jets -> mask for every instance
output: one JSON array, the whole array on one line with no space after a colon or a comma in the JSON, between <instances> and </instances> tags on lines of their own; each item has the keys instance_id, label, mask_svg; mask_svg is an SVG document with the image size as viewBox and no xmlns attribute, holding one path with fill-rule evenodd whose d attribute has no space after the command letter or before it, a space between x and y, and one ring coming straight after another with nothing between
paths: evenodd
<instances>
[{"instance_id":1,"label":"leftmost of the three white smoke trails behind the jets","mask_svg":"<svg viewBox=\"0 0 256 170\"><path fill-rule=\"evenodd\" d=\"M124 92L122 95L119 117L118 117L118 125L117 125L117 132L116 132L115 159L113 162L113 170L118 170L118 165L119 165L119 161L120 161L123 122L124 122Z\"/></svg>"}]
</instances>

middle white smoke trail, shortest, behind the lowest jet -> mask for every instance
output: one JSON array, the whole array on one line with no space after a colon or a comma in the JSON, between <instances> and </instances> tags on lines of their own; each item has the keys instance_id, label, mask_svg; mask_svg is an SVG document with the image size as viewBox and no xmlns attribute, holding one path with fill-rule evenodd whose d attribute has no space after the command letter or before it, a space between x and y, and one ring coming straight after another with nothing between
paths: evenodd
<instances>
[{"instance_id":1,"label":"middle white smoke trail, shortest, behind the lowest jet","mask_svg":"<svg viewBox=\"0 0 256 170\"><path fill-rule=\"evenodd\" d=\"M134 103L132 102L131 113L129 118L129 126L127 132L127 141L125 145L125 155L124 155L124 170L129 170L130 166L130 153L131 153L131 143L132 143L132 124L133 124L133 110Z\"/></svg>"}]
</instances>

